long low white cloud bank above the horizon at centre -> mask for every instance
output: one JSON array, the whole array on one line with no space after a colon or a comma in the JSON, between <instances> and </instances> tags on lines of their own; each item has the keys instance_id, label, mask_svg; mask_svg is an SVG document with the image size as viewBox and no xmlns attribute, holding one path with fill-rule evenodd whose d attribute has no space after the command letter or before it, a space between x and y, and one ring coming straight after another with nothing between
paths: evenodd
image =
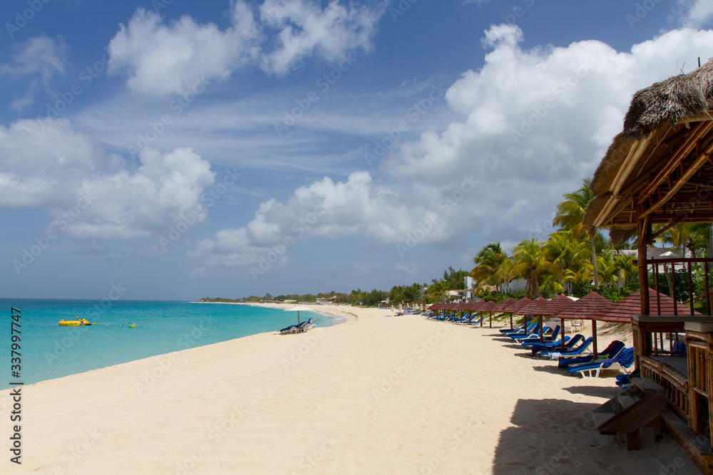
<instances>
[{"instance_id":1,"label":"long low white cloud bank above the horizon at centre","mask_svg":"<svg viewBox=\"0 0 713 475\"><path fill-rule=\"evenodd\" d=\"M454 191L458 189L463 191ZM431 188L424 194L424 188L419 187L416 194L406 190L405 195L374 185L367 172L354 172L346 182L324 177L298 188L287 203L275 199L263 202L245 227L226 229L205 239L193 256L205 266L252 266L280 246L289 249L305 239L354 234L382 244L400 244L408 248L402 251L409 252L419 244L452 237L448 223L458 219L453 210L465 207L461 202L472 191L470 177L448 189ZM282 261L286 262L284 254Z\"/></svg>"}]
</instances>

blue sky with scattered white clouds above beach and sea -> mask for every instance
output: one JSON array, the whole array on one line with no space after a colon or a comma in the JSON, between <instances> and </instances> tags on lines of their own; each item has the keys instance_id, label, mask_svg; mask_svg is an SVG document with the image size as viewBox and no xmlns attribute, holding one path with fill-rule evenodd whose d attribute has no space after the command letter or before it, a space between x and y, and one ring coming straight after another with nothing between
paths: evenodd
<instances>
[{"instance_id":1,"label":"blue sky with scattered white clouds above beach and sea","mask_svg":"<svg viewBox=\"0 0 713 475\"><path fill-rule=\"evenodd\" d=\"M388 290L546 239L709 0L9 0L0 297Z\"/></svg>"}]
</instances>

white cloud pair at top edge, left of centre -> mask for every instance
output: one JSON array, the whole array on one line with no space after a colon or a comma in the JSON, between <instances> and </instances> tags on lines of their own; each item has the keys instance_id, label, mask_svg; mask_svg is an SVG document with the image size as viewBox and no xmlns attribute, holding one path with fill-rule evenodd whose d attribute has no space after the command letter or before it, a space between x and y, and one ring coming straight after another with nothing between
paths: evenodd
<instances>
[{"instance_id":1,"label":"white cloud pair at top edge, left of centre","mask_svg":"<svg viewBox=\"0 0 713 475\"><path fill-rule=\"evenodd\" d=\"M371 48L382 11L332 1L324 9L307 0L266 0L257 9L244 1L231 10L231 26L197 24L183 16L167 25L138 9L109 43L109 73L128 75L130 90L149 95L183 93L195 78L225 79L240 67L260 66L284 75L309 56L337 61Z\"/></svg>"}]
</instances>

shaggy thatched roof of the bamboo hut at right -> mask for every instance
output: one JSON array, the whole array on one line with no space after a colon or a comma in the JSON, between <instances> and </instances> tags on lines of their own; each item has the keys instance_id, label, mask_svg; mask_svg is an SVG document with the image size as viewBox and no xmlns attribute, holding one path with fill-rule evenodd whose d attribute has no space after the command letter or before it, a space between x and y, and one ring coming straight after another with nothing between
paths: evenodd
<instances>
[{"instance_id":1,"label":"shaggy thatched roof of the bamboo hut at right","mask_svg":"<svg viewBox=\"0 0 713 475\"><path fill-rule=\"evenodd\" d=\"M584 222L622 244L653 223L713 220L713 60L635 93L591 182ZM684 218L682 218L684 216Z\"/></svg>"}]
</instances>

